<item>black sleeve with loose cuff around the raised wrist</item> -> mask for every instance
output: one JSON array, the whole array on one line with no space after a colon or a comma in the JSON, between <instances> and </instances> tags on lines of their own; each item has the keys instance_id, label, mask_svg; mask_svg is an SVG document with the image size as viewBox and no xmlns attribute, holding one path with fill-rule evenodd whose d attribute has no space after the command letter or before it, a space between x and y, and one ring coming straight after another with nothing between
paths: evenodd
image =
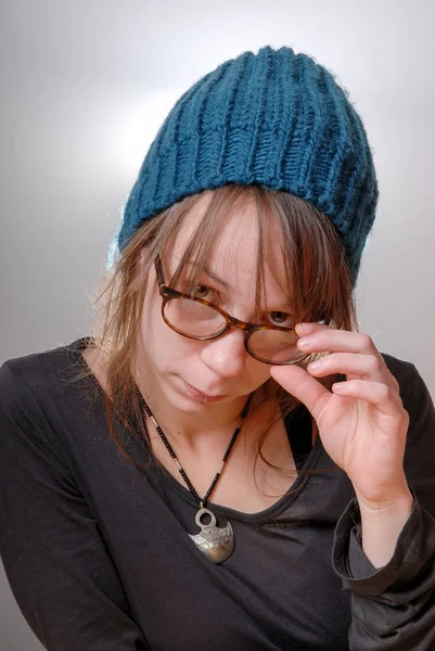
<instances>
[{"instance_id":1,"label":"black sleeve with loose cuff around the raised wrist","mask_svg":"<svg viewBox=\"0 0 435 651\"><path fill-rule=\"evenodd\" d=\"M351 651L435 650L435 410L411 368L400 393L410 416L404 467L414 502L393 558L375 569L366 557L356 498L335 529L333 566L351 593Z\"/></svg>"}]
</instances>

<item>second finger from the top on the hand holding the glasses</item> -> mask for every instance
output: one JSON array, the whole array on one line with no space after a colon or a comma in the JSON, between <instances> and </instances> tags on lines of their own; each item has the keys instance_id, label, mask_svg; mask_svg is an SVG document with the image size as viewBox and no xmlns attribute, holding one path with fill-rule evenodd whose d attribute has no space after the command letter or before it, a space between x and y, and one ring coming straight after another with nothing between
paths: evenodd
<instances>
[{"instance_id":1,"label":"second finger from the top on the hand holding the glasses","mask_svg":"<svg viewBox=\"0 0 435 651\"><path fill-rule=\"evenodd\" d=\"M382 356L358 353L332 353L308 365L307 371L316 378L342 373L348 380L360 378L383 382L397 391L395 378L387 369Z\"/></svg>"}]
</instances>

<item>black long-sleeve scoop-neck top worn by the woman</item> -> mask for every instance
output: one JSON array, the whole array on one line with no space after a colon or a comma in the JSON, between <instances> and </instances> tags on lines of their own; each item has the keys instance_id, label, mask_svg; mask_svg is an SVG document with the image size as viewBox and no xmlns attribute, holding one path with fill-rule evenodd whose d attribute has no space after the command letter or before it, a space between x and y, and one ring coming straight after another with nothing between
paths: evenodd
<instances>
[{"instance_id":1,"label":"black long-sleeve scoop-neck top worn by the woman","mask_svg":"<svg viewBox=\"0 0 435 651\"><path fill-rule=\"evenodd\" d=\"M347 475L286 421L304 476L270 508L231 522L215 565L189 536L197 506L144 438L105 422L86 340L0 369L0 551L15 599L49 651L435 650L435 411L414 366L384 355L410 414L405 471L414 496L391 561L361 548ZM299 490L295 492L295 488ZM0 633L1 640L1 633ZM1 647L1 643L0 643Z\"/></svg>"}]
</instances>

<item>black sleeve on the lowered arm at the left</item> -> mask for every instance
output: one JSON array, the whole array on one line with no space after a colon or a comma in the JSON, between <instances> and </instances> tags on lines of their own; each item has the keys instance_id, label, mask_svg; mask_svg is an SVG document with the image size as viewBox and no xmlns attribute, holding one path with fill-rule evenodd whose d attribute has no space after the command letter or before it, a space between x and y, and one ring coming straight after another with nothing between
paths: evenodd
<instances>
[{"instance_id":1,"label":"black sleeve on the lowered arm at the left","mask_svg":"<svg viewBox=\"0 0 435 651\"><path fill-rule=\"evenodd\" d=\"M145 651L97 522L14 375L0 369L0 554L16 602L49 651Z\"/></svg>"}]
</instances>

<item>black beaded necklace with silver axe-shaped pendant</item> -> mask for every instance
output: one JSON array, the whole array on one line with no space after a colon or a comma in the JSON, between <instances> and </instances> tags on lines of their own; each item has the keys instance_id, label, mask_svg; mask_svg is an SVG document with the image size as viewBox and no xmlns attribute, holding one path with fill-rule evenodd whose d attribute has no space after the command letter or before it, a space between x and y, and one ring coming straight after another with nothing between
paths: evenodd
<instances>
[{"instance_id":1,"label":"black beaded necklace with silver axe-shaped pendant","mask_svg":"<svg viewBox=\"0 0 435 651\"><path fill-rule=\"evenodd\" d=\"M184 470L181 468L170 443L166 438L165 433L163 432L162 427L159 426L159 424L155 420L154 416L152 414L151 409L146 405L138 386L136 386L136 393L137 393L140 406L143 408L146 416L153 422L154 427L156 429L159 437L162 438L163 443L165 444L166 449L168 450L169 455L174 459L179 473L181 474L182 478L184 480L185 485L188 486L190 493L193 495L193 497L195 498L195 501L197 502L197 505L200 507L200 509L196 513L196 516L195 516L195 523L201 528L201 532L193 536L191 534L188 534L188 536L191 538L191 540L193 540L193 542L196 545L196 547L200 549L200 551L209 561L212 561L213 563L216 563L216 564L223 563L223 561L226 561L232 554L232 551L234 549L234 532L233 532L233 528L232 528L230 522L227 522L227 524L222 527L216 526L216 516L209 509L206 508L206 506L207 506L208 499L209 499L213 490L216 487L216 484L218 483L218 480L222 472L223 465L228 461L228 458L230 456L232 447L233 447L233 445L239 436L239 433L243 426L244 420L248 412L252 394L251 394L250 398L247 399L245 408L243 409L243 412L241 416L241 419L242 419L241 423L239 424L238 427L235 427L232 438L226 449L220 468L217 471L207 493L201 499L200 496L197 495L196 490L192 486L192 483L189 480L188 475L185 474ZM202 401L202 404L204 404L204 403L205 403L205 400ZM204 515L207 515L209 518L208 524L203 524L201 519Z\"/></svg>"}]
</instances>

